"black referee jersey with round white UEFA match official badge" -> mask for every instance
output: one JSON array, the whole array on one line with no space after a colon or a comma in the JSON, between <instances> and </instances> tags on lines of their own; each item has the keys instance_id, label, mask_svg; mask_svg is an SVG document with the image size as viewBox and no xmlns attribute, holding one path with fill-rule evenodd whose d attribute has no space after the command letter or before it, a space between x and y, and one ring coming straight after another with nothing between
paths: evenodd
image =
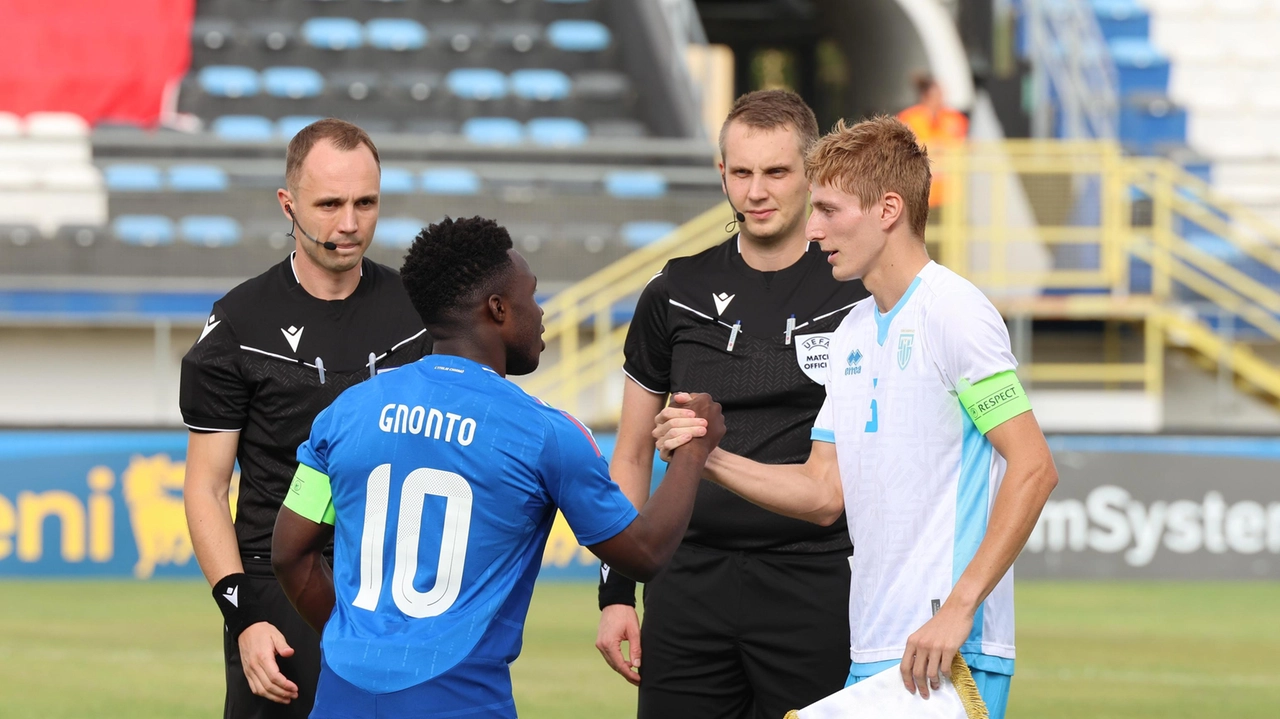
<instances>
[{"instance_id":1,"label":"black referee jersey with round white UEFA match official badge","mask_svg":"<svg viewBox=\"0 0 1280 719\"><path fill-rule=\"evenodd\" d=\"M649 280L627 331L623 371L654 393L705 391L721 403L721 446L768 464L809 458L831 333L860 281L836 281L815 243L778 271L751 269L736 237L672 260ZM790 336L788 336L788 328ZM845 518L791 519L701 482L685 541L723 550L849 549Z\"/></svg>"}]
</instances>

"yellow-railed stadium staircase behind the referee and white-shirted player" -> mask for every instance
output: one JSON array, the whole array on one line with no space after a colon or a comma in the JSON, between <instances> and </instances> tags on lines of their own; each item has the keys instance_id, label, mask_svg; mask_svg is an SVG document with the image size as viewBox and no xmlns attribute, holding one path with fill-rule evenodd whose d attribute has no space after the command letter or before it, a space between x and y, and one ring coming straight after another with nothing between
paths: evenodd
<instances>
[{"instance_id":1,"label":"yellow-railed stadium staircase behind the referee and white-shirted player","mask_svg":"<svg viewBox=\"0 0 1280 719\"><path fill-rule=\"evenodd\" d=\"M936 165L957 192L928 230L931 255L1005 313L1030 386L1128 390L1158 407L1174 351L1280 402L1275 226L1175 162L1114 142L972 143ZM669 258L723 241L730 215L718 205L547 302L548 353L525 389L614 425L628 308ZM1206 234L1217 243L1192 242ZM1076 331L1053 345L1042 326Z\"/></svg>"}]
</instances>

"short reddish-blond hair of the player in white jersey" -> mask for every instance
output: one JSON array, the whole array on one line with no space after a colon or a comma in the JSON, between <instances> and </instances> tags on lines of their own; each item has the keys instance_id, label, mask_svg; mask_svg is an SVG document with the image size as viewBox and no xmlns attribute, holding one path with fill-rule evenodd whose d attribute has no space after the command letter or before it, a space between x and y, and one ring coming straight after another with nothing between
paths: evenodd
<instances>
[{"instance_id":1,"label":"short reddish-blond hair of the player in white jersey","mask_svg":"<svg viewBox=\"0 0 1280 719\"><path fill-rule=\"evenodd\" d=\"M911 233L924 237L929 221L929 154L911 128L878 115L852 127L845 120L818 139L805 156L813 184L833 187L858 198L865 210L886 192L902 197Z\"/></svg>"}]
</instances>

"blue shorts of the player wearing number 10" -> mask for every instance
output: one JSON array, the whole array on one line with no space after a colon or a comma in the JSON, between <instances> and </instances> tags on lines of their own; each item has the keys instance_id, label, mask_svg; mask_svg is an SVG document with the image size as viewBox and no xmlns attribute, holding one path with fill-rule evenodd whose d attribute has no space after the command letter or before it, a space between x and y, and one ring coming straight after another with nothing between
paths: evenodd
<instances>
[{"instance_id":1,"label":"blue shorts of the player wearing number 10","mask_svg":"<svg viewBox=\"0 0 1280 719\"><path fill-rule=\"evenodd\" d=\"M311 719L516 719L506 664L462 663L429 682L398 692L372 693L339 677L320 660L320 684Z\"/></svg>"}]
</instances>

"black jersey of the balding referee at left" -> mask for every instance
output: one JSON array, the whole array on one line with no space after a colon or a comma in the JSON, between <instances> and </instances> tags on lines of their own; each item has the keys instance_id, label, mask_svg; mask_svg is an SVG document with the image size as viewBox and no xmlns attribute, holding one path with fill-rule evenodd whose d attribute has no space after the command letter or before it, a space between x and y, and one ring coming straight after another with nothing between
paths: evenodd
<instances>
[{"instance_id":1,"label":"black jersey of the balding referee at left","mask_svg":"<svg viewBox=\"0 0 1280 719\"><path fill-rule=\"evenodd\" d=\"M349 297L319 299L298 284L291 255L215 302L182 358L183 422L241 432L236 540L244 558L270 558L296 450L316 415L374 371L431 352L399 274L367 258L360 271Z\"/></svg>"}]
</instances>

